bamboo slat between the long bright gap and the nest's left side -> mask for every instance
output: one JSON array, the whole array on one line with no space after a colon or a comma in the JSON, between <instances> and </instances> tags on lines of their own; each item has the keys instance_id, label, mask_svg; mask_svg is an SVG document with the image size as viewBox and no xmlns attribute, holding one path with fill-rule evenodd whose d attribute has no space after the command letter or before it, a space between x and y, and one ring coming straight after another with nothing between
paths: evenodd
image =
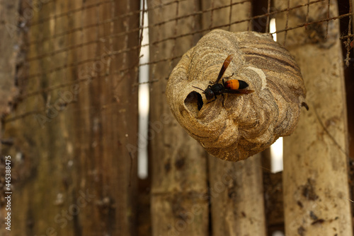
<instances>
[{"instance_id":1,"label":"bamboo slat between the long bright gap and the nest's left side","mask_svg":"<svg viewBox=\"0 0 354 236\"><path fill-rule=\"evenodd\" d=\"M200 15L171 20L200 10L198 1L147 1L149 9L150 138L152 162L152 235L207 235L209 203L207 156L176 122L166 103L166 79L200 35ZM173 37L176 37L173 39ZM172 59L178 57L177 59Z\"/></svg>"}]
</instances>

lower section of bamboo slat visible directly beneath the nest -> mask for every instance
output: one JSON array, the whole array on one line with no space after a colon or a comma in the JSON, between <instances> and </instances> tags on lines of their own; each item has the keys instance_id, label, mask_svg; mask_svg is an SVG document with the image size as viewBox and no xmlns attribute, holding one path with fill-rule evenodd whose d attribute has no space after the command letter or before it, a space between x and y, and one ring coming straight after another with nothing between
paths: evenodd
<instances>
[{"instance_id":1,"label":"lower section of bamboo slat visible directly beneath the nest","mask_svg":"<svg viewBox=\"0 0 354 236\"><path fill-rule=\"evenodd\" d=\"M212 235L265 235L260 157L237 163L209 158Z\"/></svg>"}]
</instances>

